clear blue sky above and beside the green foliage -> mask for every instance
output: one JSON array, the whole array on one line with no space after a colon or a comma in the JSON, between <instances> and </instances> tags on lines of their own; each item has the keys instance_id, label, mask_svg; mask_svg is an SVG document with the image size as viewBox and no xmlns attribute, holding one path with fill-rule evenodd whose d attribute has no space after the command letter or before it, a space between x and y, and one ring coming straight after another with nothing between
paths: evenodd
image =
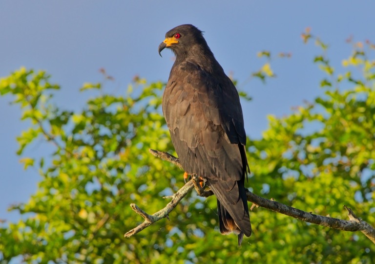
<instances>
[{"instance_id":1,"label":"clear blue sky above and beside the green foliage","mask_svg":"<svg viewBox=\"0 0 375 264\"><path fill-rule=\"evenodd\" d=\"M233 74L240 88L253 97L243 103L245 128L260 137L267 115L282 116L303 100L322 93L323 74L312 64L319 50L304 45L306 27L330 45L328 55L336 68L348 57L345 40L375 42L374 1L0 1L0 76L26 66L44 69L61 85L55 102L80 110L88 94L79 92L84 82L103 80L105 68L115 78L109 92L125 93L134 75L148 81L167 81L172 53L157 52L172 27L191 23L205 31L205 38L224 70ZM277 78L267 85L250 73L265 62L256 53L291 52L291 59L271 65ZM37 170L23 171L16 155L16 136L27 128L9 97L0 98L0 219L17 220L8 213L12 203L26 202L37 189ZM46 155L38 144L25 155Z\"/></svg>"}]
</instances>

